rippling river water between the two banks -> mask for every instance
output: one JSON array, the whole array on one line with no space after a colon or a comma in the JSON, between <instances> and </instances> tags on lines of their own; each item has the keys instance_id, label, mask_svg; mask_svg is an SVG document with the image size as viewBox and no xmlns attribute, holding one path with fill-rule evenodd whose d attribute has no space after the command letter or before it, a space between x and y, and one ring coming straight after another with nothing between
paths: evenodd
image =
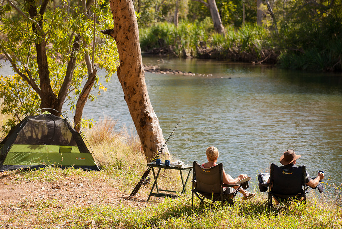
<instances>
[{"instance_id":1,"label":"rippling river water between the two banks","mask_svg":"<svg viewBox=\"0 0 342 229\"><path fill-rule=\"evenodd\" d=\"M311 177L325 170L328 183L342 178L342 75L281 70L268 65L197 59L144 57L145 64L197 73L195 76L145 73L150 100L163 136L171 137L173 157L186 164L207 161L209 146L219 163L237 177L257 174L288 149L302 155ZM101 74L101 71L100 71ZM104 73L102 73L104 74ZM117 76L107 92L88 102L83 117L104 116L133 126Z\"/></svg>"}]
</instances>

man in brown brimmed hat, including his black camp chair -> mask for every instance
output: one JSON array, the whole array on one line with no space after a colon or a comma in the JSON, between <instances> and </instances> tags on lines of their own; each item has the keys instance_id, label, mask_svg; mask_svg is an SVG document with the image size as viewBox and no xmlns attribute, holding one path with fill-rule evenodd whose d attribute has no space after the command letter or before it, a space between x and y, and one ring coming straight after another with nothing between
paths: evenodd
<instances>
[{"instance_id":1,"label":"man in brown brimmed hat, including his black camp chair","mask_svg":"<svg viewBox=\"0 0 342 229\"><path fill-rule=\"evenodd\" d=\"M268 184L270 184L269 188L269 206L272 206L272 199L270 199L272 196L275 203L278 204L280 199L284 199L286 196L286 192L297 192L297 194L291 195L289 194L288 197L294 196L296 199L302 199L305 200L305 190L306 189L298 189L299 186L302 188L302 185L311 187L311 188L317 188L318 185L320 185L320 181L324 179L324 173L319 172L318 176L314 179L310 178L310 175L305 170L305 166L295 167L297 159L301 155L296 155L294 150L287 150L285 153L280 157L279 162L284 165L281 167L278 167L274 164L271 164L271 176L268 179ZM289 176L295 176L295 173L298 174L297 177L289 178L287 180L287 175ZM279 180L282 179L282 180ZM303 179L303 181L301 181ZM287 180L287 181L285 181ZM286 183L286 182L292 182L292 183ZM294 184L298 183L298 184ZM273 187L276 186L276 187ZM297 188L297 191L295 190ZM271 203L270 203L271 202Z\"/></svg>"}]
</instances>

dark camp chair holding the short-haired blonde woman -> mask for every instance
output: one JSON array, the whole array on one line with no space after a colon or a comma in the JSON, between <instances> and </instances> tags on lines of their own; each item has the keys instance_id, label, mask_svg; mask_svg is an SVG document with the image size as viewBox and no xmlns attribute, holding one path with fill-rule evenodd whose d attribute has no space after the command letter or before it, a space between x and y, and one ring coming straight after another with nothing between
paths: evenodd
<instances>
[{"instance_id":1,"label":"dark camp chair holding the short-haired blonde woman","mask_svg":"<svg viewBox=\"0 0 342 229\"><path fill-rule=\"evenodd\" d=\"M234 197L238 193L240 187L247 188L248 181L240 185L223 184L223 165L222 163L208 169L203 169L196 161L193 162L193 179L192 179L192 206L194 206L194 194L205 204L204 199L225 201L229 205L234 206ZM224 187L238 186L232 193L224 193Z\"/></svg>"}]
</instances>

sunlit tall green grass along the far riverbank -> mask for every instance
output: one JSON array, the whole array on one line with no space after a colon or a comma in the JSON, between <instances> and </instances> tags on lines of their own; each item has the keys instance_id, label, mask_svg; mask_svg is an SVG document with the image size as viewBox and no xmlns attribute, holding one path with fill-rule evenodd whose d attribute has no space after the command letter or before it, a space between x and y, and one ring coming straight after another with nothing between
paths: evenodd
<instances>
[{"instance_id":1,"label":"sunlit tall green grass along the far riverbank","mask_svg":"<svg viewBox=\"0 0 342 229\"><path fill-rule=\"evenodd\" d=\"M181 21L178 27L161 22L140 30L140 44L147 52L177 57L201 57L204 49L210 51L210 58L254 62L264 60L271 52L266 39L269 33L263 27L246 24L238 29L228 26L226 31L212 32L207 22Z\"/></svg>"}]
</instances>

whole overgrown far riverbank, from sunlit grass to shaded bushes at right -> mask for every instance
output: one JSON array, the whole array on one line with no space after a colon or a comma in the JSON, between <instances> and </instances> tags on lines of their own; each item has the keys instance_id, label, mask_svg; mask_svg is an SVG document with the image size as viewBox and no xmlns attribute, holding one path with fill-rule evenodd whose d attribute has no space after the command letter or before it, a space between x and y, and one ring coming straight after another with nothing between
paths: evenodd
<instances>
[{"instance_id":1,"label":"whole overgrown far riverbank, from sunlit grass to shaded bushes at right","mask_svg":"<svg viewBox=\"0 0 342 229\"><path fill-rule=\"evenodd\" d=\"M342 71L338 32L330 35L324 30L317 31L315 37L302 30L286 29L280 34L255 24L229 25L225 30L225 34L215 33L210 24L203 21L182 21L178 27L158 22L140 28L140 45L142 51L154 55L268 63L305 71Z\"/></svg>"}]
</instances>

